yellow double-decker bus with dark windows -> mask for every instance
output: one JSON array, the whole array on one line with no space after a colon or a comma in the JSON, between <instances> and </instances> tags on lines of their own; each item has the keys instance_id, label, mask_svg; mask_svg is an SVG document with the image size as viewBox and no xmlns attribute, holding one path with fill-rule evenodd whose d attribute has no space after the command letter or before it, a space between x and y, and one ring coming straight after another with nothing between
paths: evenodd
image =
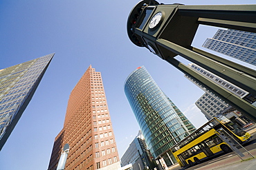
<instances>
[{"instance_id":1,"label":"yellow double-decker bus with dark windows","mask_svg":"<svg viewBox=\"0 0 256 170\"><path fill-rule=\"evenodd\" d=\"M219 121L217 118L212 118L171 148L174 158L180 166L192 167L202 160L232 151L228 144L219 137L220 134L217 132L219 129L224 129L241 145L251 138L248 132L241 130L230 120Z\"/></svg>"}]
</instances>

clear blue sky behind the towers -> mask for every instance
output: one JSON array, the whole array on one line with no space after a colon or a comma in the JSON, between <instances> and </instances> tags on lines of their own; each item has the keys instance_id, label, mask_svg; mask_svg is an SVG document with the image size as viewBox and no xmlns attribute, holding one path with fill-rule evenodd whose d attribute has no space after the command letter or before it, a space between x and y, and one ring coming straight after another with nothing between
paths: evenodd
<instances>
[{"instance_id":1,"label":"clear blue sky behind the towers","mask_svg":"<svg viewBox=\"0 0 256 170\"><path fill-rule=\"evenodd\" d=\"M136 3L137 0L0 1L0 69L55 52L33 99L0 151L0 169L48 168L54 138L63 127L69 94L90 64L102 72L120 158L139 130L123 89L125 79L138 66L145 65L158 86L196 127L206 122L194 105L203 91L172 65L129 41L127 17ZM179 3L253 4L255 1ZM216 31L217 28L200 26L192 45L206 50L201 45ZM190 63L179 56L177 59Z\"/></svg>"}]
</instances>

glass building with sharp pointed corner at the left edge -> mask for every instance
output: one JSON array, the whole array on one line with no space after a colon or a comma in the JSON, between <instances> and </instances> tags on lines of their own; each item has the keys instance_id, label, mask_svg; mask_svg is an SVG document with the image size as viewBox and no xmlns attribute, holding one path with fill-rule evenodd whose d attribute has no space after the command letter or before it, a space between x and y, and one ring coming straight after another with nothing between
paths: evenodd
<instances>
[{"instance_id":1,"label":"glass building with sharp pointed corner at the left edge","mask_svg":"<svg viewBox=\"0 0 256 170\"><path fill-rule=\"evenodd\" d=\"M54 54L0 70L0 150L30 102Z\"/></svg>"}]
</instances>

